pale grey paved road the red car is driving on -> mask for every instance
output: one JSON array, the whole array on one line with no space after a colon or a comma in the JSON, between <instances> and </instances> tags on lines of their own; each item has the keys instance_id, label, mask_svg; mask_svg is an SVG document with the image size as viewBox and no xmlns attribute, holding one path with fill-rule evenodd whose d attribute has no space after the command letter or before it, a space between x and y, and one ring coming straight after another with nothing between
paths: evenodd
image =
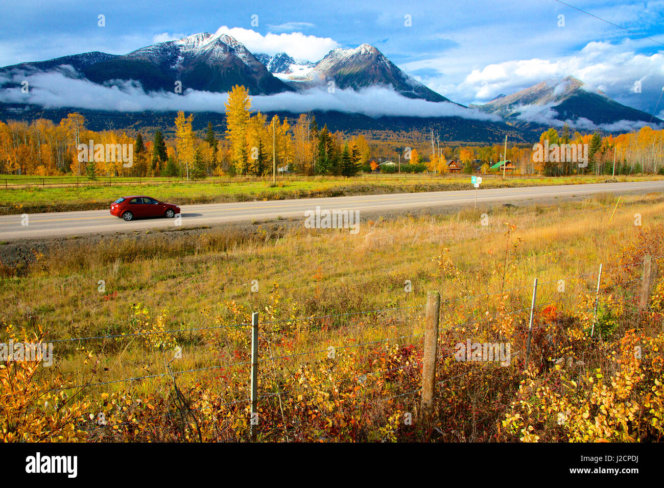
<instances>
[{"instance_id":1,"label":"pale grey paved road the red car is driving on","mask_svg":"<svg viewBox=\"0 0 664 488\"><path fill-rule=\"evenodd\" d=\"M468 187L470 179L468 180ZM628 183L593 183L588 185L557 185L550 187L480 189L480 203L537 201L554 197L575 197L612 192L648 193L664 191L664 181L638 181ZM118 197L123 196L118 191ZM159 198L159 195L150 195ZM182 226L200 226L220 222L237 222L265 218L302 217L306 210L390 210L422 208L428 206L472 205L475 190L436 191L426 193L399 193L392 195L365 195L360 197L329 197L185 205L182 209ZM109 203L110 205L110 203ZM0 239L38 238L44 236L69 236L90 232L132 232L149 228L175 226L172 218L145 218L124 222L112 216L109 210L85 210L82 212L52 212L29 214L28 225L22 224L21 215L0 216Z\"/></svg>"}]
</instances>

